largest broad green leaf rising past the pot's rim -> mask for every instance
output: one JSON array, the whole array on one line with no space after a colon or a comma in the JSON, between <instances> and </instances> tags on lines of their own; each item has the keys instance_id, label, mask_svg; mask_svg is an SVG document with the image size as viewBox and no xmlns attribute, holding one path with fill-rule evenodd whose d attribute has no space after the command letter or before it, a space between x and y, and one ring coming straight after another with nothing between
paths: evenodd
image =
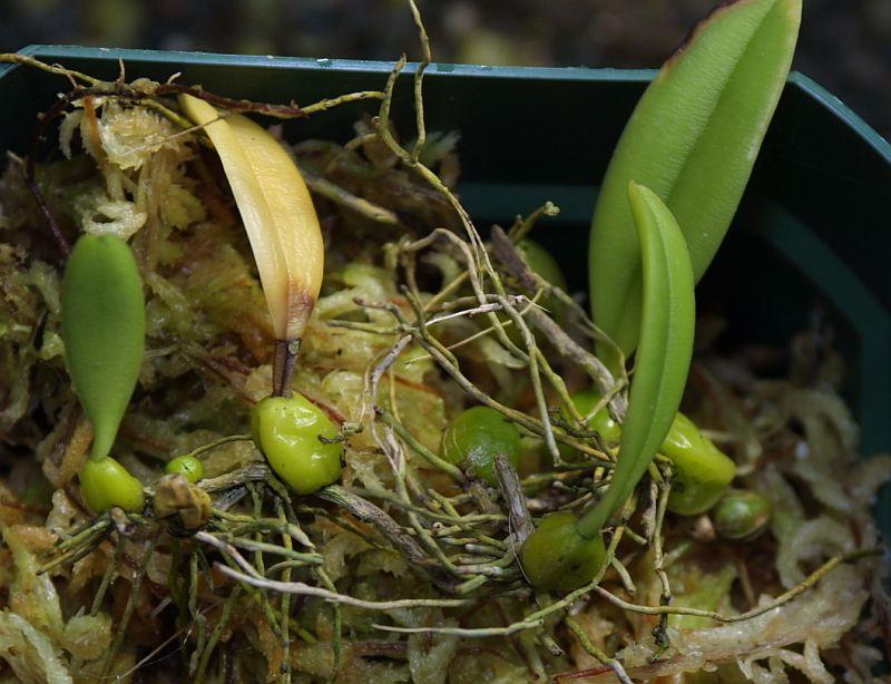
<instances>
[{"instance_id":1,"label":"largest broad green leaf rising past the pot's rim","mask_svg":"<svg viewBox=\"0 0 891 684\"><path fill-rule=\"evenodd\" d=\"M595 322L628 356L640 328L639 243L629 180L668 206L698 281L740 204L789 75L802 0L736 0L714 11L638 102L591 224Z\"/></svg>"}]
</instances>

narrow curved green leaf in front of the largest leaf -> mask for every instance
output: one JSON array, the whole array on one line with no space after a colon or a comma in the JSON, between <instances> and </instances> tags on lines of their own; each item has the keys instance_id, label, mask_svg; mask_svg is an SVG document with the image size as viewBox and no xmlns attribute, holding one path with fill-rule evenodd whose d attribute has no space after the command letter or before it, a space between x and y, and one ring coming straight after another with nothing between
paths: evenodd
<instances>
[{"instance_id":1,"label":"narrow curved green leaf in front of the largest leaf","mask_svg":"<svg viewBox=\"0 0 891 684\"><path fill-rule=\"evenodd\" d=\"M653 190L631 182L628 202L642 246L640 348L613 480L604 498L578 522L587 539L600 532L656 456L681 405L693 355L696 302L684 234Z\"/></svg>"}]
</instances>

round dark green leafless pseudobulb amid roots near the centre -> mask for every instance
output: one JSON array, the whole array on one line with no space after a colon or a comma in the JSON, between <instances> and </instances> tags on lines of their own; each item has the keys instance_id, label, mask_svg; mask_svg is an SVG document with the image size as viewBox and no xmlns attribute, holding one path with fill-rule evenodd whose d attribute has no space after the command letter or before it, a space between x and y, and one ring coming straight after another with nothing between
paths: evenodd
<instances>
[{"instance_id":1,"label":"round dark green leafless pseudobulb amid roots near the centre","mask_svg":"<svg viewBox=\"0 0 891 684\"><path fill-rule=\"evenodd\" d=\"M496 486L495 457L503 453L515 468L520 462L520 431L489 407L462 411L442 434L441 456L450 463Z\"/></svg>"}]
</instances>

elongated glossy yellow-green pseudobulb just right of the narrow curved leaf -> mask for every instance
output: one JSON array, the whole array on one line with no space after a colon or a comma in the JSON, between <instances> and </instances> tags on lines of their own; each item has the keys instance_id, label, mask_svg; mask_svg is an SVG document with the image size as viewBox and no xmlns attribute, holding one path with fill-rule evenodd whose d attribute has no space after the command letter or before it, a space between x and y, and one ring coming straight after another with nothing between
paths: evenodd
<instances>
[{"instance_id":1,"label":"elongated glossy yellow-green pseudobulb just right of the narrow curved leaf","mask_svg":"<svg viewBox=\"0 0 891 684\"><path fill-rule=\"evenodd\" d=\"M668 510L682 516L712 508L736 475L736 465L683 413L675 416L659 453L672 459L675 469Z\"/></svg>"}]
</instances>

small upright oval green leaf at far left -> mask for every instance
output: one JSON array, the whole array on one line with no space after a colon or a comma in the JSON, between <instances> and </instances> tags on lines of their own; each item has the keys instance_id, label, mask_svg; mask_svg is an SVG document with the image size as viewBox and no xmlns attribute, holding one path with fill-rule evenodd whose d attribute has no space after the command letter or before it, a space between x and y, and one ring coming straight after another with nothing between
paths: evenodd
<instances>
[{"instance_id":1,"label":"small upright oval green leaf at far left","mask_svg":"<svg viewBox=\"0 0 891 684\"><path fill-rule=\"evenodd\" d=\"M95 433L92 458L108 456L136 388L145 352L143 282L130 248L114 235L84 235L65 268L65 359Z\"/></svg>"}]
</instances>

